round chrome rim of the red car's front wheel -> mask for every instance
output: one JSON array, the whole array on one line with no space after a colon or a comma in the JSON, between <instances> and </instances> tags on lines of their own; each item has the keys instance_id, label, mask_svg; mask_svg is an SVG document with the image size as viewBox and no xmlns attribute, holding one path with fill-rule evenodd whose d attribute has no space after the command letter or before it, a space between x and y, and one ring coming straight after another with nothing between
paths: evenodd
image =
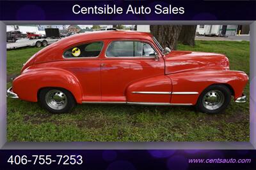
<instances>
[{"instance_id":1,"label":"round chrome rim of the red car's front wheel","mask_svg":"<svg viewBox=\"0 0 256 170\"><path fill-rule=\"evenodd\" d=\"M203 97L203 105L207 110L216 110L220 108L224 101L224 94L220 90L211 90Z\"/></svg>"}]
</instances>

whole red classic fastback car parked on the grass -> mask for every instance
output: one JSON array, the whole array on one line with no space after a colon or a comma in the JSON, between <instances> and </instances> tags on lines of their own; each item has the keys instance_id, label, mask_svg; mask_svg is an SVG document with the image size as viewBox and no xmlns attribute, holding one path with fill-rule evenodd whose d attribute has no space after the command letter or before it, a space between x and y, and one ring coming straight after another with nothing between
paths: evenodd
<instances>
[{"instance_id":1,"label":"whole red classic fastback car parked on the grass","mask_svg":"<svg viewBox=\"0 0 256 170\"><path fill-rule=\"evenodd\" d=\"M218 53L170 51L151 34L103 31L63 38L35 53L8 95L52 113L76 103L193 106L219 113L246 102L248 76Z\"/></svg>"}]
</instances>

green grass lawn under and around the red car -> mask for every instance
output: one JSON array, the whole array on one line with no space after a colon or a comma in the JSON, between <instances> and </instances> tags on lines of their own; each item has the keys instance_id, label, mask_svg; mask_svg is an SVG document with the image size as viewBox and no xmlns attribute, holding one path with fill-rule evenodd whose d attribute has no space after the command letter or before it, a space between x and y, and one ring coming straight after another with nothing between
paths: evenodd
<instances>
[{"instance_id":1,"label":"green grass lawn under and around the red car","mask_svg":"<svg viewBox=\"0 0 256 170\"><path fill-rule=\"evenodd\" d=\"M224 53L230 69L249 74L249 42L196 41L178 50ZM7 74L40 48L7 52ZM7 83L10 87L11 83ZM246 86L249 97L249 85ZM224 113L196 113L193 107L77 105L71 113L52 114L37 103L7 99L8 141L249 141L249 102L232 101Z\"/></svg>"}]
</instances>

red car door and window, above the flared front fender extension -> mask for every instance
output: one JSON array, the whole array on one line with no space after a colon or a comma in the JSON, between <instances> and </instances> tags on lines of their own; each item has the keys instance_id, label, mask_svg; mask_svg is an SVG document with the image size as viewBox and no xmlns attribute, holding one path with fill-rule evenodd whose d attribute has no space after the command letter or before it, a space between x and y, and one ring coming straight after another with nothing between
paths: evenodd
<instances>
[{"instance_id":1,"label":"red car door and window, above the flared front fender extension","mask_svg":"<svg viewBox=\"0 0 256 170\"><path fill-rule=\"evenodd\" d=\"M156 46L138 39L109 40L105 57L100 64L102 102L127 101L127 88L132 84L164 75L164 60ZM147 94L147 99L150 94ZM142 102L142 101L141 101ZM164 102L170 102L166 97Z\"/></svg>"}]
</instances>

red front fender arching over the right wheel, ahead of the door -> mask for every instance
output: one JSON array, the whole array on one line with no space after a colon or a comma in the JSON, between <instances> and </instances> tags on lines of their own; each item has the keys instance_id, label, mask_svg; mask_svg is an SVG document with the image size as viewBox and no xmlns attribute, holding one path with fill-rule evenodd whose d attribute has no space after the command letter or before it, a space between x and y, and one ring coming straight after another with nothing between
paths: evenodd
<instances>
[{"instance_id":1,"label":"red front fender arching over the right wheel, ahead of the door","mask_svg":"<svg viewBox=\"0 0 256 170\"><path fill-rule=\"evenodd\" d=\"M241 97L248 76L242 71L196 70L168 74L172 80L173 92L198 92L198 94L173 94L172 103L196 104L202 91L213 84L224 84L234 90L234 99Z\"/></svg>"}]
</instances>

